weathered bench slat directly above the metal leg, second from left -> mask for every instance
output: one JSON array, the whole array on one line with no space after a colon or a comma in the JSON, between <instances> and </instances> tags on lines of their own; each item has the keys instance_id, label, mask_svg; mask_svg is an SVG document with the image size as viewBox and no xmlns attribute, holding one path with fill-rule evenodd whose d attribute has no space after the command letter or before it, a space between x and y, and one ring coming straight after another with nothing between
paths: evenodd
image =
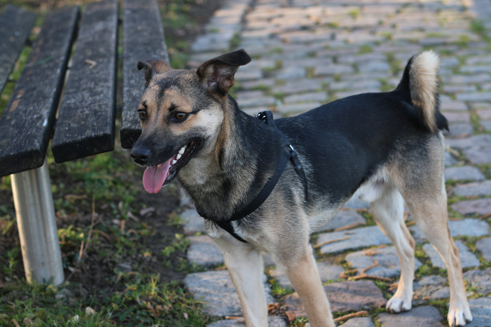
<instances>
[{"instance_id":1,"label":"weathered bench slat directly above the metal leg, second from left","mask_svg":"<svg viewBox=\"0 0 491 327\"><path fill-rule=\"evenodd\" d=\"M78 17L78 7L46 16L0 118L0 176L44 163Z\"/></svg>"}]
</instances>

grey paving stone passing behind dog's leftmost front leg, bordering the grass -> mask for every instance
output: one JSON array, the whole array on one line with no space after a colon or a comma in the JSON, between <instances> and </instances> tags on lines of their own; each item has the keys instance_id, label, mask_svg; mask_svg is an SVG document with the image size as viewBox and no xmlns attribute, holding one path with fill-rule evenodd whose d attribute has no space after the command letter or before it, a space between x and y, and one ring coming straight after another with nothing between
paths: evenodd
<instances>
[{"instance_id":1,"label":"grey paving stone passing behind dog's leftmost front leg, bordering the grass","mask_svg":"<svg viewBox=\"0 0 491 327\"><path fill-rule=\"evenodd\" d=\"M266 279L266 275L263 275L266 301L273 303L274 300ZM184 285L194 299L206 302L202 308L203 312L218 317L243 315L239 296L228 271L190 273L184 278Z\"/></svg>"}]
</instances>

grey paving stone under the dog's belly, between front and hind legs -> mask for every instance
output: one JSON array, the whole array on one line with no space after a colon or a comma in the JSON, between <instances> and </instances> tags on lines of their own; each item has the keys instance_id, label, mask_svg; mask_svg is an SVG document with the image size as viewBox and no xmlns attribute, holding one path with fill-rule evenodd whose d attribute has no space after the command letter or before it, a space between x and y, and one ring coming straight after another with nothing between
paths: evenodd
<instances>
[{"instance_id":1,"label":"grey paving stone under the dog's belly, between front and hind legs","mask_svg":"<svg viewBox=\"0 0 491 327\"><path fill-rule=\"evenodd\" d=\"M346 231L321 233L318 235L317 244L343 238L346 239L322 245L321 253L334 253L352 248L392 243L388 237L382 233L379 226L367 226Z\"/></svg>"}]
</instances>

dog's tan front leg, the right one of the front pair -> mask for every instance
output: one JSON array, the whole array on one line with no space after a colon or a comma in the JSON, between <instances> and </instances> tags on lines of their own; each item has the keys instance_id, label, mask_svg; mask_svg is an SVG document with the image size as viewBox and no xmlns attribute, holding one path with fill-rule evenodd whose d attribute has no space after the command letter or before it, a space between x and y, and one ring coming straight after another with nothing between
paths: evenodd
<instances>
[{"instance_id":1,"label":"dog's tan front leg, the right one of the front pair","mask_svg":"<svg viewBox=\"0 0 491 327\"><path fill-rule=\"evenodd\" d=\"M334 327L332 314L327 300L317 265L312 255L312 248L307 244L303 254L297 259L283 259L280 264L290 279L295 291L300 296L310 326Z\"/></svg>"}]
</instances>

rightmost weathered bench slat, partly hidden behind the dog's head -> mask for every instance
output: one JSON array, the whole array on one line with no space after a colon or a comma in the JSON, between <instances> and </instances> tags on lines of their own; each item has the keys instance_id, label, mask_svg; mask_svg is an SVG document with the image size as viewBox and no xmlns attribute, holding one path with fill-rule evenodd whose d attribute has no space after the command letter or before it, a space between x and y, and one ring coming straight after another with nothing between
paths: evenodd
<instances>
[{"instance_id":1,"label":"rightmost weathered bench slat, partly hidden behind the dog's head","mask_svg":"<svg viewBox=\"0 0 491 327\"><path fill-rule=\"evenodd\" d=\"M169 63L164 28L155 0L123 0L123 112L121 146L131 149L141 134L136 109L145 90L139 60L160 57Z\"/></svg>"}]
</instances>

